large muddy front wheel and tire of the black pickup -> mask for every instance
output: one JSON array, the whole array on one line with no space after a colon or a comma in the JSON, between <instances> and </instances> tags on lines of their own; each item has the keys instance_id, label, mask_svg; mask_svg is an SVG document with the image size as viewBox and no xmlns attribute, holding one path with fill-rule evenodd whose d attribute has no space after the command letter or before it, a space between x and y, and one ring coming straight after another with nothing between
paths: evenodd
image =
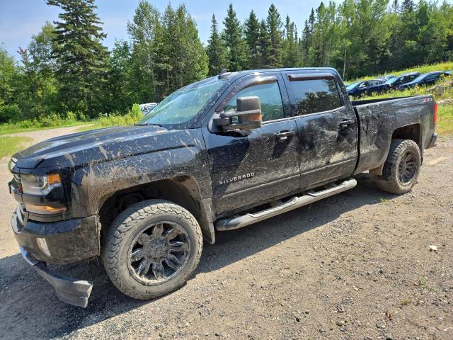
<instances>
[{"instance_id":1,"label":"large muddy front wheel and tire of the black pickup","mask_svg":"<svg viewBox=\"0 0 453 340\"><path fill-rule=\"evenodd\" d=\"M195 217L166 200L132 205L104 236L102 257L108 277L122 293L139 300L180 288L202 253L202 232Z\"/></svg>"}]
</instances>

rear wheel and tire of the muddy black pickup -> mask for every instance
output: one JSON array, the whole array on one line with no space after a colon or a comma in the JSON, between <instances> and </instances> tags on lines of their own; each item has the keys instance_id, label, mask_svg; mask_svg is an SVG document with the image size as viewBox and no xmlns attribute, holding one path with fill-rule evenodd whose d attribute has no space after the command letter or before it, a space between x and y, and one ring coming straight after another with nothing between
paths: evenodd
<instances>
[{"instance_id":1,"label":"rear wheel and tire of the muddy black pickup","mask_svg":"<svg viewBox=\"0 0 453 340\"><path fill-rule=\"evenodd\" d=\"M408 193L417 183L420 165L417 143L413 140L392 140L382 176L377 178L378 188L389 193Z\"/></svg>"}]
</instances>

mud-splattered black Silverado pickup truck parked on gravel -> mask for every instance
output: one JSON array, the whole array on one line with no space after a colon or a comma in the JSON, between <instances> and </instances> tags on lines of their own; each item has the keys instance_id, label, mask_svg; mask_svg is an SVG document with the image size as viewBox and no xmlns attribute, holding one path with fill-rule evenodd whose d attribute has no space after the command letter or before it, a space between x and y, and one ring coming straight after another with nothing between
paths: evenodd
<instances>
[{"instance_id":1,"label":"mud-splattered black Silverado pickup truck parked on gravel","mask_svg":"<svg viewBox=\"0 0 453 340\"><path fill-rule=\"evenodd\" d=\"M346 191L369 171L391 193L417 181L436 142L432 96L350 101L335 69L222 72L133 126L56 137L10 162L21 253L65 302L92 284L45 263L101 256L147 300L195 271L203 239Z\"/></svg>"}]
</instances>

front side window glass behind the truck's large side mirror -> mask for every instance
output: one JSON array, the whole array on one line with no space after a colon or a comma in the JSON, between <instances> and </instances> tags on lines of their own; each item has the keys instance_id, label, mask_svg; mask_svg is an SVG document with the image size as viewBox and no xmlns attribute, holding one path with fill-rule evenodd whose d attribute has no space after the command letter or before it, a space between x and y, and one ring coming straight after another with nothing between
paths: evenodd
<instances>
[{"instance_id":1,"label":"front side window glass behind the truck's large side mirror","mask_svg":"<svg viewBox=\"0 0 453 340\"><path fill-rule=\"evenodd\" d=\"M236 110L236 99L240 97L258 96L261 103L261 117L263 122L285 118L282 94L278 82L248 86L235 94L224 107L224 112Z\"/></svg>"}]
</instances>

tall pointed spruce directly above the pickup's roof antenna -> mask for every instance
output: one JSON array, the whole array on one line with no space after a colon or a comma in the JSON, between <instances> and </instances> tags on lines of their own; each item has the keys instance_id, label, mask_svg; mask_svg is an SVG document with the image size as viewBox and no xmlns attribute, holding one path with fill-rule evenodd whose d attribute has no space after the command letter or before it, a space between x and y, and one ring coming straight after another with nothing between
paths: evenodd
<instances>
[{"instance_id":1,"label":"tall pointed spruce directly above the pickup's roof antenna","mask_svg":"<svg viewBox=\"0 0 453 340\"><path fill-rule=\"evenodd\" d=\"M242 38L241 23L233 9L233 4L229 4L224 27L222 40L228 50L229 70L241 71L247 64L246 43Z\"/></svg>"}]
</instances>

